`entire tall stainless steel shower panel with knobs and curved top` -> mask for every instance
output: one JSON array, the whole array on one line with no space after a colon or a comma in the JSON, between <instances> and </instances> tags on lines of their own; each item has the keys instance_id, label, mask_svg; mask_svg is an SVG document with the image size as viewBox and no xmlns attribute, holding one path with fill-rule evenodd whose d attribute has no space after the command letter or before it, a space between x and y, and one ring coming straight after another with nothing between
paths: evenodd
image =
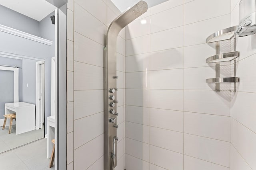
<instances>
[{"instance_id":1,"label":"entire tall stainless steel shower panel with knobs and curved top","mask_svg":"<svg viewBox=\"0 0 256 170\"><path fill-rule=\"evenodd\" d=\"M119 32L130 22L144 14L148 10L148 4L138 2L132 8L126 10L110 24L106 36L104 49L104 170L113 170L116 167L116 124L117 96L116 91L116 40ZM112 163L114 164L112 165Z\"/></svg>"}]
</instances>

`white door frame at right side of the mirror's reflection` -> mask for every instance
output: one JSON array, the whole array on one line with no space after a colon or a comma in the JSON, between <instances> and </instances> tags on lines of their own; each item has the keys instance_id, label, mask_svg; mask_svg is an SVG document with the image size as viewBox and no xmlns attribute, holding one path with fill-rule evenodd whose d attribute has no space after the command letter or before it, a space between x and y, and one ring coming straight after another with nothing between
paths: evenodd
<instances>
[{"instance_id":1,"label":"white door frame at right side of the mirror's reflection","mask_svg":"<svg viewBox=\"0 0 256 170\"><path fill-rule=\"evenodd\" d=\"M43 65L43 66L40 67L40 65ZM42 68L41 71L39 70L40 68ZM45 62L38 61L36 62L36 129L37 130L43 128L43 124L44 124L44 106L45 106L44 87L45 87ZM42 96L39 95L41 89L42 89L41 91ZM40 102L42 104L42 109L39 109Z\"/></svg>"}]
</instances>

